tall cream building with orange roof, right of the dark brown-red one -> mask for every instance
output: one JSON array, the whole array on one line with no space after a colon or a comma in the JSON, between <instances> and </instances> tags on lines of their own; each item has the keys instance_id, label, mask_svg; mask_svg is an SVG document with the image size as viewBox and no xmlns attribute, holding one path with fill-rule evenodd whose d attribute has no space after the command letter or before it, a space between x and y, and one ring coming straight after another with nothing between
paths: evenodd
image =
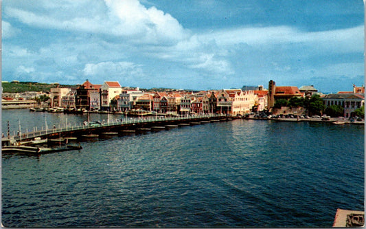
<instances>
[{"instance_id":1,"label":"tall cream building with orange roof, right of the dark brown-red one","mask_svg":"<svg viewBox=\"0 0 366 229\"><path fill-rule=\"evenodd\" d=\"M104 111L111 110L111 100L122 92L122 87L117 81L104 81L100 87L101 109Z\"/></svg>"}]
</instances>

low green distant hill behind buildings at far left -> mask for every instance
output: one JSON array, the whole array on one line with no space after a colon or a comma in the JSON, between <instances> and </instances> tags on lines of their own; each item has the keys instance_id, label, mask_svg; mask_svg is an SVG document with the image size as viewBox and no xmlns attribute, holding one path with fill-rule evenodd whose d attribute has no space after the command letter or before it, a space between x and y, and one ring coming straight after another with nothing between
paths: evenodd
<instances>
[{"instance_id":1,"label":"low green distant hill behind buildings at far left","mask_svg":"<svg viewBox=\"0 0 366 229\"><path fill-rule=\"evenodd\" d=\"M25 91L50 91L53 87L69 87L76 89L77 85L58 85L48 83L37 83L37 82L2 82L1 87L3 93L18 93Z\"/></svg>"}]
</instances>

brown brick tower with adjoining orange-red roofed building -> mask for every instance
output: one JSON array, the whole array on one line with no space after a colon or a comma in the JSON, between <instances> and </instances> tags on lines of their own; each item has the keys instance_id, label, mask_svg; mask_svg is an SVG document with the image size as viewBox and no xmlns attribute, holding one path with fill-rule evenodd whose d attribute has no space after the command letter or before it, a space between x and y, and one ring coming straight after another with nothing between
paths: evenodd
<instances>
[{"instance_id":1,"label":"brown brick tower with adjoining orange-red roofed building","mask_svg":"<svg viewBox=\"0 0 366 229\"><path fill-rule=\"evenodd\" d=\"M268 110L272 111L275 101L279 99L290 100L293 97L304 97L299 88L295 86L276 86L275 81L270 80L268 83Z\"/></svg>"}]
</instances>

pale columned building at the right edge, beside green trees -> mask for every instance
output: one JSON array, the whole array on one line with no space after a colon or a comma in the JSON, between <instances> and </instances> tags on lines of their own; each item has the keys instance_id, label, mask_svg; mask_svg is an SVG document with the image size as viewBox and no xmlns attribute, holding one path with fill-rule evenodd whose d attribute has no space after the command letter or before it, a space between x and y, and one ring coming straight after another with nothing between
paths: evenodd
<instances>
[{"instance_id":1,"label":"pale columned building at the right edge, beside green trees","mask_svg":"<svg viewBox=\"0 0 366 229\"><path fill-rule=\"evenodd\" d=\"M365 87L356 87L353 91L339 91L337 94L323 96L325 106L338 105L343 107L343 117L349 118L352 112L365 106Z\"/></svg>"}]
</instances>

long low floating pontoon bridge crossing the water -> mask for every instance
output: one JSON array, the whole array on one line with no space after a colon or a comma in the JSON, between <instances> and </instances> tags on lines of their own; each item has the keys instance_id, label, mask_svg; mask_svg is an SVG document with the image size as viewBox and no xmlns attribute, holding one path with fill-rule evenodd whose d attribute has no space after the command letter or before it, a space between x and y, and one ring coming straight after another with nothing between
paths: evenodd
<instances>
[{"instance_id":1,"label":"long low floating pontoon bridge crossing the water","mask_svg":"<svg viewBox=\"0 0 366 229\"><path fill-rule=\"evenodd\" d=\"M103 133L126 133L150 131L151 129L171 129L173 127L183 127L194 124L231 120L225 115L206 114L199 116L180 116L180 117L159 117L150 116L139 119L121 120L106 122L104 124L79 125L75 127L45 128L41 131L19 133L19 135L9 135L2 138L2 145L10 142L30 141L37 139L56 139L67 137L82 137L83 135L100 135Z\"/></svg>"}]
</instances>

